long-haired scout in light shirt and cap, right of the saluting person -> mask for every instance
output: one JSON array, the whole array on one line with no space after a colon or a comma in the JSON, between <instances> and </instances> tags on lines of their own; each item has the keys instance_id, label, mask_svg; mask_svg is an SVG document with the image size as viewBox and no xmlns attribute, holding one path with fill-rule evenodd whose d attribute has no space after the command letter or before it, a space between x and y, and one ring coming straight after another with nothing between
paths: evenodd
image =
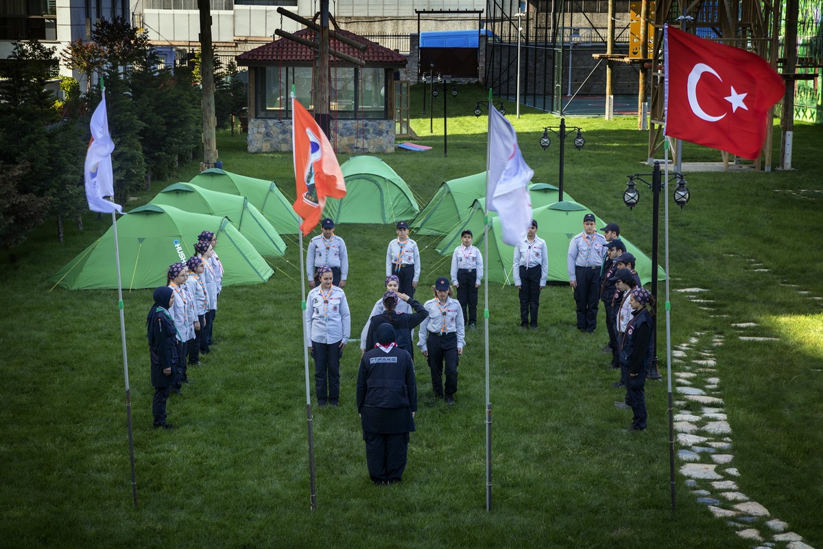
<instances>
[{"instance_id":1,"label":"long-haired scout in light shirt and cap, right of the saluting person","mask_svg":"<svg viewBox=\"0 0 823 549\"><path fill-rule=\"evenodd\" d=\"M420 341L417 347L429 361L431 387L435 397L446 398L446 404L454 403L458 392L458 361L466 346L463 311L458 300L452 299L449 279L439 277L432 286L435 298L425 302L429 317L420 325ZM446 366L446 390L443 392L443 365Z\"/></svg>"}]
</instances>

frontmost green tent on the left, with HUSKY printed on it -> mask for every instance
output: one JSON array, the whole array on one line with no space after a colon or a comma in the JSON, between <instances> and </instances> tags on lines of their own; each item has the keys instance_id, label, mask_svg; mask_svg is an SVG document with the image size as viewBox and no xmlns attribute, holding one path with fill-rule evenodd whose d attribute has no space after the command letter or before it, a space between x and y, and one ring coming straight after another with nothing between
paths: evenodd
<instances>
[{"instance_id":1,"label":"frontmost green tent on the left, with HUSKY printed on it","mask_svg":"<svg viewBox=\"0 0 823 549\"><path fill-rule=\"evenodd\" d=\"M123 289L165 286L169 265L193 255L193 245L203 230L211 230L217 236L217 254L225 270L224 286L265 282L272 276L266 260L226 217L146 204L117 221ZM50 281L69 290L116 288L114 228L72 259Z\"/></svg>"}]
</instances>

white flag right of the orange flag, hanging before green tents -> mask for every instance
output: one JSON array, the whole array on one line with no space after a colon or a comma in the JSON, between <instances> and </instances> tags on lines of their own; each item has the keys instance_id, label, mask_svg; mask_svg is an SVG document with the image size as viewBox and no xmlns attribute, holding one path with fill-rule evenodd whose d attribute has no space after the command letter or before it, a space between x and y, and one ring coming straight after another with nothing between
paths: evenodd
<instances>
[{"instance_id":1,"label":"white flag right of the orange flag, hanging before green tents","mask_svg":"<svg viewBox=\"0 0 823 549\"><path fill-rule=\"evenodd\" d=\"M532 200L528 182L534 170L528 167L517 133L511 123L493 105L489 105L489 188L486 203L491 212L500 216L502 239L506 244L517 244L532 224Z\"/></svg>"}]
</instances>

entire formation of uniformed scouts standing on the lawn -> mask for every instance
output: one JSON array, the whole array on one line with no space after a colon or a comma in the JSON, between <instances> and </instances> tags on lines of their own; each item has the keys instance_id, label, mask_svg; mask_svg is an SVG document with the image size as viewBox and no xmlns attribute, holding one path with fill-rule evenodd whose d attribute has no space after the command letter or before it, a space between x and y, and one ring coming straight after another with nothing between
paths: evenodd
<instances>
[{"instance_id":1,"label":"entire formation of uniformed scouts standing on the lawn","mask_svg":"<svg viewBox=\"0 0 823 549\"><path fill-rule=\"evenodd\" d=\"M514 284L524 329L537 328L540 292L548 275L548 250L537 229L532 220L527 235L514 246ZM626 253L619 236L614 223L598 233L594 216L586 214L584 230L569 245L568 270L581 332L594 332L598 302L604 305L609 342L603 351L611 352L611 366L621 370L621 379L612 386L625 388L624 400L615 405L634 411L626 430L639 431L646 428L644 384L653 356L653 298L641 286L635 257ZM423 304L414 299L420 250L409 238L405 221L398 223L397 238L388 243L385 293L360 332L356 385L366 462L375 484L400 482L406 468L417 410L415 329L416 347L428 362L435 397L454 404L465 327L476 326L477 289L483 277L483 259L472 237L471 230L463 231L452 256L451 280L437 278L431 286L433 298ZM147 319L156 427L170 427L165 401L170 390L179 391L187 383L187 358L188 364L198 364L198 353L208 352L211 344L222 267L213 251L214 235L204 231L199 238L198 255L170 266L169 285L156 289ZM347 274L346 243L334 234L334 221L324 219L321 234L309 241L306 276L311 290L304 314L305 345L314 358L320 407L339 405L340 358L351 336L351 312L343 291Z\"/></svg>"}]
</instances>

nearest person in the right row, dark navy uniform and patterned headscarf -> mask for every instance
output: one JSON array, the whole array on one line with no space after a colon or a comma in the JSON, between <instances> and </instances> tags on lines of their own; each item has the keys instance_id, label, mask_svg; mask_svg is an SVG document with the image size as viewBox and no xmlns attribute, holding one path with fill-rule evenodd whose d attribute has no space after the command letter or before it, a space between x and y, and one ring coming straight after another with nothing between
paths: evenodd
<instances>
[{"instance_id":1,"label":"nearest person in the right row, dark navy uniform and patterned headscarf","mask_svg":"<svg viewBox=\"0 0 823 549\"><path fill-rule=\"evenodd\" d=\"M630 292L632 318L625 328L621 342L620 363L628 372L626 389L629 406L635 413L631 425L625 432L646 430L646 375L652 365L654 298L643 287Z\"/></svg>"}]
</instances>

